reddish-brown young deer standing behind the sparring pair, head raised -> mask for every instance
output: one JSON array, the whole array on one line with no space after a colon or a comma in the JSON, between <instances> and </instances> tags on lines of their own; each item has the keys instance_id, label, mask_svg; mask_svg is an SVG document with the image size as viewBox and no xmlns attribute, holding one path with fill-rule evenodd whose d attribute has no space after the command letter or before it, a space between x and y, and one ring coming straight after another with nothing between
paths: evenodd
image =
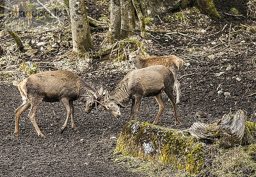
<instances>
[{"instance_id":1,"label":"reddish-brown young deer standing behind the sparring pair, head raised","mask_svg":"<svg viewBox=\"0 0 256 177\"><path fill-rule=\"evenodd\" d=\"M169 56L150 56L143 58L140 56L141 47L137 51L129 54L129 62L134 65L136 69L148 67L152 65L164 65L172 71L174 76L174 85L177 91L176 104L180 102L180 82L177 79L177 74L180 68L183 66L183 60L175 55Z\"/></svg>"}]
</instances>

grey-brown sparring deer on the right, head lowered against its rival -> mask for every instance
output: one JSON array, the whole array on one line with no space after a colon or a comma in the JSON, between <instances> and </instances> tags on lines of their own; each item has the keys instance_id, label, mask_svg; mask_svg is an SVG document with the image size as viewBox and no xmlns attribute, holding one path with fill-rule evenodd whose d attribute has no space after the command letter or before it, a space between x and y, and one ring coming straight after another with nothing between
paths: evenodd
<instances>
[{"instance_id":1,"label":"grey-brown sparring deer on the right, head lowered against its rival","mask_svg":"<svg viewBox=\"0 0 256 177\"><path fill-rule=\"evenodd\" d=\"M131 99L130 120L132 120L134 115L135 121L137 121L141 99L143 97L155 96L159 104L159 111L153 122L153 124L156 125L165 107L162 98L162 92L164 91L172 101L175 124L178 124L179 120L177 118L175 98L173 96L173 84L174 77L172 72L163 65L154 65L138 70L131 70L109 96L108 93L106 93L104 106L113 115L119 117L121 115L120 106L128 107L128 103Z\"/></svg>"}]
</instances>

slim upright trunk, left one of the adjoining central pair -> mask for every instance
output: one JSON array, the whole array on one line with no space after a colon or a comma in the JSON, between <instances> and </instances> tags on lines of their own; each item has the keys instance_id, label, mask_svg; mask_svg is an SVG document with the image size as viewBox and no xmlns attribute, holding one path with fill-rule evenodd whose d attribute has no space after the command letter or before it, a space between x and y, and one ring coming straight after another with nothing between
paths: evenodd
<instances>
[{"instance_id":1,"label":"slim upright trunk, left one of the adjoining central pair","mask_svg":"<svg viewBox=\"0 0 256 177\"><path fill-rule=\"evenodd\" d=\"M121 30L121 8L120 0L110 1L110 25L108 31L108 37L110 42L114 42L115 39L120 38Z\"/></svg>"}]
</instances>

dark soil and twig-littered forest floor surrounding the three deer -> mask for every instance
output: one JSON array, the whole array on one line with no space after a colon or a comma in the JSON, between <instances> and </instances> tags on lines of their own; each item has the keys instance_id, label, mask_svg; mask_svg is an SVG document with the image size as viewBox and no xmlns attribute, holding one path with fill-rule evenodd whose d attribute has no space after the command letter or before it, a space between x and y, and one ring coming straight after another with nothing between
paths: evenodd
<instances>
[{"instance_id":1,"label":"dark soil and twig-littered forest floor surrounding the three deer","mask_svg":"<svg viewBox=\"0 0 256 177\"><path fill-rule=\"evenodd\" d=\"M108 1L102 2L86 1L90 17L96 20L108 17ZM181 96L177 114L181 124L175 126L172 104L167 96L163 96L166 108L159 126L186 129L198 121L211 124L230 109L244 110L247 121L255 121L256 96L249 95L256 93L256 21L246 18L246 5L240 3L215 2L218 11L227 13L232 4L243 14L240 17L222 13L221 20L213 21L195 8L186 8L148 20L148 30L179 31L180 34L148 33L149 39L136 34L131 36L142 42L152 56L177 55L186 62L178 74ZM147 176L147 173L136 172L123 162L115 162L113 151L122 127L128 122L129 107L121 109L121 118L117 120L109 112L98 115L99 110L85 114L85 105L76 101L78 129L71 130L70 123L60 134L59 128L66 117L64 107L59 102L42 103L37 123L46 137L36 135L27 118L28 110L20 117L20 136L13 135L14 110L22 101L12 81L28 76L19 69L21 62L32 61L38 65L39 71L73 70L96 89L103 85L109 92L133 68L126 59L116 61L111 57L103 61L70 56L67 54L72 50L70 29L17 34L37 53L28 56L15 51L15 42L9 34L0 35L0 45L4 49L0 56L0 176ZM91 28L93 51L109 46L105 41L106 34L106 28ZM38 46L38 42L46 45ZM47 50L49 45L55 50ZM153 97L143 98L139 121L152 123L157 111L158 104ZM196 117L198 111L206 112L207 118Z\"/></svg>"}]
</instances>

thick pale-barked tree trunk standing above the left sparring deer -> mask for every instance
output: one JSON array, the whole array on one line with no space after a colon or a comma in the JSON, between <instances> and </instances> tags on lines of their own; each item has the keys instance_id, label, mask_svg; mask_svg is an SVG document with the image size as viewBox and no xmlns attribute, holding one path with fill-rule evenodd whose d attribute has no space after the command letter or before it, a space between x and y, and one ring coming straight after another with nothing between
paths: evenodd
<instances>
[{"instance_id":1,"label":"thick pale-barked tree trunk standing above the left sparring deer","mask_svg":"<svg viewBox=\"0 0 256 177\"><path fill-rule=\"evenodd\" d=\"M84 0L69 0L73 51L85 52L92 47Z\"/></svg>"}]
</instances>

